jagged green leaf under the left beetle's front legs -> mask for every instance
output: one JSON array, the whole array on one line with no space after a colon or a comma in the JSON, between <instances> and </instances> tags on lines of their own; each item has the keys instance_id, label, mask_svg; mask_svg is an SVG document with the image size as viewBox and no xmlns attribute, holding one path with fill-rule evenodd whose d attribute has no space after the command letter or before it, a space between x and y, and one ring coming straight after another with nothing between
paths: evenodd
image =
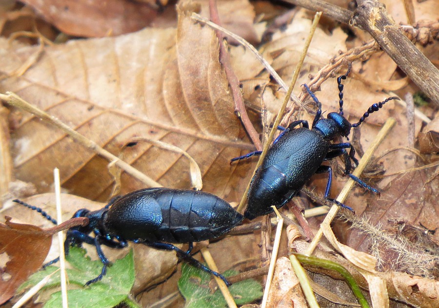
<instances>
[{"instance_id":1,"label":"jagged green leaf under the left beetle's front legs","mask_svg":"<svg viewBox=\"0 0 439 308\"><path fill-rule=\"evenodd\" d=\"M107 274L101 281L88 287L84 287L84 284L99 276L102 262L91 261L85 256L85 250L76 247L70 249L67 261L72 267L66 270L69 284L75 284L81 288L76 287L67 291L69 307L111 308L122 302L128 303L130 307L136 307L137 304L128 298L135 277L132 250L124 258L116 260L112 266L108 267ZM20 289L34 286L43 277L57 269L51 266L33 274L26 283L20 286ZM60 286L59 272L51 277L44 289L58 286ZM52 293L44 307L62 307L61 292Z\"/></svg>"}]
</instances>

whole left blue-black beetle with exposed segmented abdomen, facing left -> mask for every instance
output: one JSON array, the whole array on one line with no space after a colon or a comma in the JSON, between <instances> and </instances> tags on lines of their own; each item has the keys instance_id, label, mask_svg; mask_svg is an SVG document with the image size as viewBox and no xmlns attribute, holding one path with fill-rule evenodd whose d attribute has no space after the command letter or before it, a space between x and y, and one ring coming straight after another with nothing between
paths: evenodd
<instances>
[{"instance_id":1,"label":"whole left blue-black beetle with exposed segmented abdomen, facing left","mask_svg":"<svg viewBox=\"0 0 439 308\"><path fill-rule=\"evenodd\" d=\"M17 199L13 201L40 212L57 224L55 219L40 208ZM186 262L230 285L224 276L205 267L190 255L192 242L219 237L243 220L239 212L216 195L193 190L147 188L113 198L98 211L80 209L72 218L74 217L87 217L89 224L67 231L65 254L68 255L70 246L86 243L96 247L103 263L100 275L85 285L100 281L110 264L100 246L121 249L127 246L127 241L160 250L174 250ZM91 232L94 235L89 235ZM170 243L189 243L189 249L183 251ZM58 260L59 258L44 267Z\"/></svg>"}]
</instances>

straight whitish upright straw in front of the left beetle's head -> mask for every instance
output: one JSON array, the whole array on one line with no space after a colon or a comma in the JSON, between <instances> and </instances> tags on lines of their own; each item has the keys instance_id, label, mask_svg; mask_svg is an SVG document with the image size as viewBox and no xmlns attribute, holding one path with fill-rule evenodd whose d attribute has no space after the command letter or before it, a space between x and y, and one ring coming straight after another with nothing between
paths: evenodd
<instances>
[{"instance_id":1,"label":"straight whitish upright straw in front of the left beetle's head","mask_svg":"<svg viewBox=\"0 0 439 308\"><path fill-rule=\"evenodd\" d=\"M60 169L53 170L53 183L55 186L55 200L57 206L57 221L62 222L61 216L61 184L60 184ZM60 278L61 278L61 298L62 308L68 307L67 301L67 273L65 271L65 251L64 251L64 237L62 231L58 232L58 241L60 245Z\"/></svg>"}]
</instances>

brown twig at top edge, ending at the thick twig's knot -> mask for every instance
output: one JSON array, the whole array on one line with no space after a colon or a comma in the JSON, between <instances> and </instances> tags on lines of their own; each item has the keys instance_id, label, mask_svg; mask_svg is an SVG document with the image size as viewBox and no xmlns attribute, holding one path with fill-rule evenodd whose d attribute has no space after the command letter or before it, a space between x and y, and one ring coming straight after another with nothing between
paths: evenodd
<instances>
[{"instance_id":1,"label":"brown twig at top edge, ending at the thick twig's knot","mask_svg":"<svg viewBox=\"0 0 439 308\"><path fill-rule=\"evenodd\" d=\"M322 0L283 0L292 3L313 12L322 12L324 16L348 24L351 19L352 12L339 7L338 5L322 1Z\"/></svg>"}]
</instances>

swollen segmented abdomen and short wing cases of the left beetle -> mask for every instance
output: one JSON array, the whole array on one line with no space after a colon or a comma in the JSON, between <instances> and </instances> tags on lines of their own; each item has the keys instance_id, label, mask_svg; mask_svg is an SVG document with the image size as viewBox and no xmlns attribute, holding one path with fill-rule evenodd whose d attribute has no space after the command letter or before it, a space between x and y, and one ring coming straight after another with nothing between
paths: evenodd
<instances>
[{"instance_id":1,"label":"swollen segmented abdomen and short wing cases of the left beetle","mask_svg":"<svg viewBox=\"0 0 439 308\"><path fill-rule=\"evenodd\" d=\"M117 199L106 213L105 227L126 240L188 243L218 237L242 219L211 193L151 188Z\"/></svg>"}]
</instances>

